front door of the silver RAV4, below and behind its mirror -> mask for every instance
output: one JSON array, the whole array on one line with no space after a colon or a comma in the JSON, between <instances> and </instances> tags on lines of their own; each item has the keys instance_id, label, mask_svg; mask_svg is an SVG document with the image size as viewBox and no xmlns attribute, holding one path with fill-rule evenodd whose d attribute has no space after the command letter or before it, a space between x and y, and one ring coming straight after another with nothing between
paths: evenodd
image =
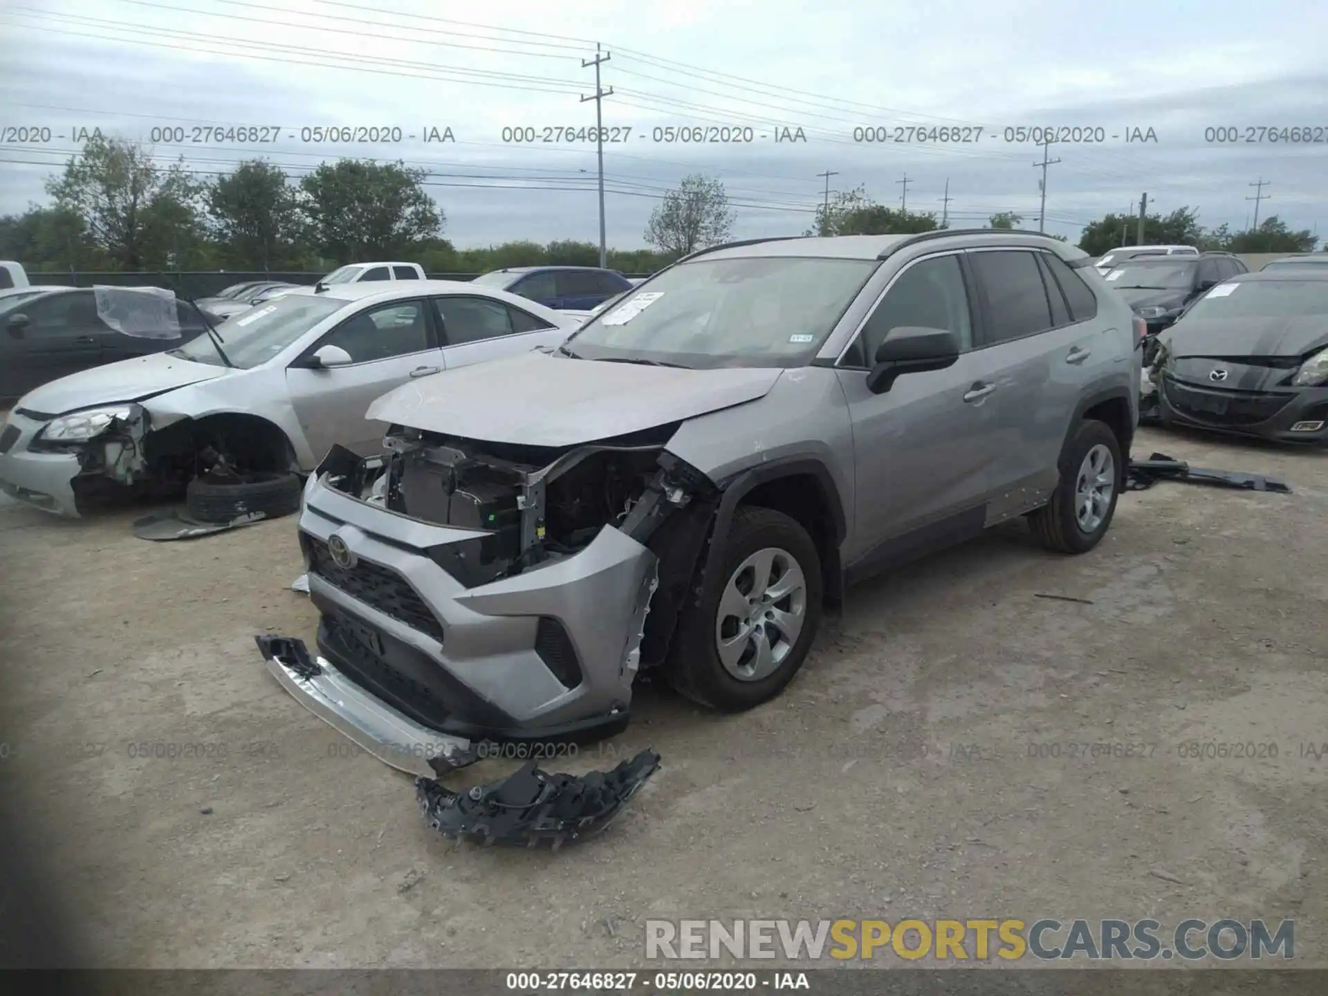
<instances>
[{"instance_id":1,"label":"front door of the silver RAV4, below and behind its mirror","mask_svg":"<svg viewBox=\"0 0 1328 996\"><path fill-rule=\"evenodd\" d=\"M867 372L876 348L907 325L954 332L959 360L906 373L887 392L871 393ZM964 267L957 252L947 252L908 263L839 357L854 440L858 548L849 552L850 567L870 572L983 527L996 437L972 345Z\"/></svg>"}]
</instances>

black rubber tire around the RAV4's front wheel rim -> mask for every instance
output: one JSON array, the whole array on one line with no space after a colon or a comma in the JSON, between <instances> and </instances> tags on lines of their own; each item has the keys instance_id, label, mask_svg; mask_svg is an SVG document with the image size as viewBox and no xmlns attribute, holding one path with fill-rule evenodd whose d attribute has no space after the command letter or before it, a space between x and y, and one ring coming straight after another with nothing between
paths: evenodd
<instances>
[{"instance_id":1,"label":"black rubber tire around the RAV4's front wheel rim","mask_svg":"<svg viewBox=\"0 0 1328 996\"><path fill-rule=\"evenodd\" d=\"M778 668L764 679L742 681L720 661L714 645L716 614L729 578L742 562L766 547L778 547L797 562L806 584L802 631ZM721 579L709 598L701 578L693 584L669 647L664 673L668 683L695 703L720 712L742 712L774 699L802 668L821 623L822 578L817 544L798 522L781 511L742 506L724 540Z\"/></svg>"}]
</instances>

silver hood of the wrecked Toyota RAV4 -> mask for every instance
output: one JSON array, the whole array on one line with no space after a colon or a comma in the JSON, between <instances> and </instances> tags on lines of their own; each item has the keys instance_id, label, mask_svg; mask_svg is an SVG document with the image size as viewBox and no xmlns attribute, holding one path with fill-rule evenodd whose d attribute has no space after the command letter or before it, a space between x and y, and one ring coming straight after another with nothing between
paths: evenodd
<instances>
[{"instance_id":1,"label":"silver hood of the wrecked Toyota RAV4","mask_svg":"<svg viewBox=\"0 0 1328 996\"><path fill-rule=\"evenodd\" d=\"M436 373L384 394L367 418L529 446L575 446L756 401L780 368L681 371L530 352Z\"/></svg>"}]
</instances>

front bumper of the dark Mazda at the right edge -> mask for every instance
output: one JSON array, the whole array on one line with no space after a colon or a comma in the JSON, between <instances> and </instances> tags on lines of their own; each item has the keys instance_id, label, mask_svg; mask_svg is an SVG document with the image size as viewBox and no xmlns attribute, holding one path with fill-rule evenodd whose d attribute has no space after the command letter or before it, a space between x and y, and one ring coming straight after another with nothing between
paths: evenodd
<instances>
[{"instance_id":1,"label":"front bumper of the dark Mazda at the right edge","mask_svg":"<svg viewBox=\"0 0 1328 996\"><path fill-rule=\"evenodd\" d=\"M1163 425L1185 425L1279 442L1328 444L1328 386L1222 390L1163 373L1158 385Z\"/></svg>"}]
</instances>

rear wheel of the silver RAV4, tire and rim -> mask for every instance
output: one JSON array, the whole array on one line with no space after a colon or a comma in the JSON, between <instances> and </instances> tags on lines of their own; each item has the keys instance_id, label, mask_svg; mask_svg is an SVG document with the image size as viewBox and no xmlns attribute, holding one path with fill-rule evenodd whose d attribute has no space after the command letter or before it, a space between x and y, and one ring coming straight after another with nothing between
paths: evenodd
<instances>
[{"instance_id":1,"label":"rear wheel of the silver RAV4, tire and rim","mask_svg":"<svg viewBox=\"0 0 1328 996\"><path fill-rule=\"evenodd\" d=\"M1125 461L1116 433L1105 422L1080 422L1061 452L1061 481L1052 501L1029 521L1041 543L1064 554L1085 554L1096 547L1112 517L1125 478Z\"/></svg>"}]
</instances>

